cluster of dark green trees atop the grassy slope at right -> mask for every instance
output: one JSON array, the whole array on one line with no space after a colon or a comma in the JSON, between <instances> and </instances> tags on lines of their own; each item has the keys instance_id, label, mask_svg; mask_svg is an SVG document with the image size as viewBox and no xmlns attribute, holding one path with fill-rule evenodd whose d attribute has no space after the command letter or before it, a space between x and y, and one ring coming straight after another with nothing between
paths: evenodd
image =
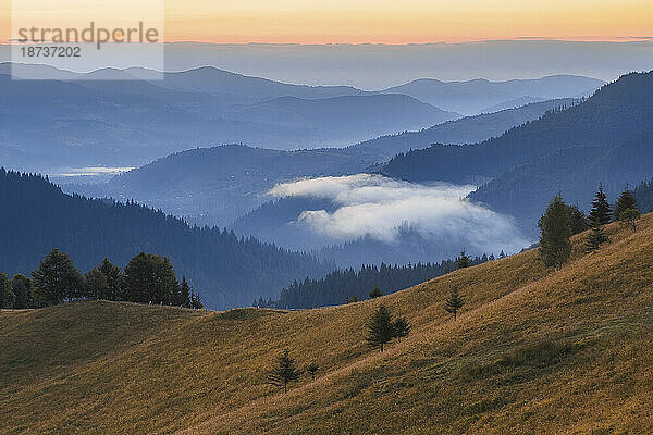
<instances>
[{"instance_id":1,"label":"cluster of dark green trees atop the grassy slope at right","mask_svg":"<svg viewBox=\"0 0 653 435\"><path fill-rule=\"evenodd\" d=\"M637 221L640 216L637 201L630 190L625 190L619 196L613 210L603 186L600 185L588 216L578 207L566 204L562 196L556 195L539 222L541 229L539 250L542 261L546 266L557 271L571 256L572 235L591 228L586 251L593 252L608 241L603 229L604 225L613 221L620 222L637 232Z\"/></svg>"}]
</instances>

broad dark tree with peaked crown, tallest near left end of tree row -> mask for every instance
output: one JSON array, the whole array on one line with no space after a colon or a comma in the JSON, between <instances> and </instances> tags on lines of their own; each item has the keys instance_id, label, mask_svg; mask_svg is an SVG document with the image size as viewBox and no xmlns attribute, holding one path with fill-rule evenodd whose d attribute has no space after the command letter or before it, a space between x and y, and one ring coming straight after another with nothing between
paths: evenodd
<instances>
[{"instance_id":1,"label":"broad dark tree with peaked crown, tallest near left end of tree row","mask_svg":"<svg viewBox=\"0 0 653 435\"><path fill-rule=\"evenodd\" d=\"M35 299L39 307L53 306L81 296L82 274L65 252L52 249L40 261L34 277Z\"/></svg>"}]
</instances>

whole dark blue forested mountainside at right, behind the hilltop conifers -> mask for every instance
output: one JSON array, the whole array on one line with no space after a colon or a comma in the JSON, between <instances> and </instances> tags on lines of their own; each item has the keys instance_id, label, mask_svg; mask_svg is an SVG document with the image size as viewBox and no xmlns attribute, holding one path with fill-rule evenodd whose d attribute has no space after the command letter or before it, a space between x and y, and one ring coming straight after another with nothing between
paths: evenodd
<instances>
[{"instance_id":1,"label":"whole dark blue forested mountainside at right, behind the hilltop conifers","mask_svg":"<svg viewBox=\"0 0 653 435\"><path fill-rule=\"evenodd\" d=\"M477 145L436 145L401 154L386 176L464 183L491 178L470 198L516 216L530 234L557 192L588 209L603 183L615 199L653 175L653 72L632 73L566 110Z\"/></svg>"}]
</instances>

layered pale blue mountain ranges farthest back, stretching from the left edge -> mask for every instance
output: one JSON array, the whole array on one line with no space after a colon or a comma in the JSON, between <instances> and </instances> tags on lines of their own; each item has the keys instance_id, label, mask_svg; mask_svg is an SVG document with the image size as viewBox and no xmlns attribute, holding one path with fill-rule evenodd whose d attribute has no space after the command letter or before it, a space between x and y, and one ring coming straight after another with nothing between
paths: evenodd
<instances>
[{"instance_id":1,"label":"layered pale blue mountain ranges farthest back, stretching from the left edge","mask_svg":"<svg viewBox=\"0 0 653 435\"><path fill-rule=\"evenodd\" d=\"M12 66L17 77L56 79L12 80ZM4 164L33 171L133 167L198 146L345 147L458 119L451 109L456 101L476 98L480 110L527 96L570 97L596 82L566 76L508 87L438 82L442 98L435 98L415 84L406 85L408 95L398 88L369 92L348 86L292 85L209 66L169 72L163 80L138 79L146 73L128 69L75 74L44 65L0 64ZM554 92L550 88L556 84L560 89ZM509 89L484 97L489 91L483 89L495 85ZM479 94L473 97L469 91L476 87Z\"/></svg>"}]
</instances>

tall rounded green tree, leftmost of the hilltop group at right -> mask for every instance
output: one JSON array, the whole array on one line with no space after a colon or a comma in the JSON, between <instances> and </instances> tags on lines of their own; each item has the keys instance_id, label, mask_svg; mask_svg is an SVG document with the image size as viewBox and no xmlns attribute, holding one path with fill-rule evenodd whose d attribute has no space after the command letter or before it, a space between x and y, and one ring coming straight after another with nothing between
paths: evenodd
<instances>
[{"instance_id":1,"label":"tall rounded green tree, leftmost of the hilltop group at right","mask_svg":"<svg viewBox=\"0 0 653 435\"><path fill-rule=\"evenodd\" d=\"M540 220L540 257L545 265L557 271L571 254L569 214L559 195L551 200Z\"/></svg>"}]
</instances>

